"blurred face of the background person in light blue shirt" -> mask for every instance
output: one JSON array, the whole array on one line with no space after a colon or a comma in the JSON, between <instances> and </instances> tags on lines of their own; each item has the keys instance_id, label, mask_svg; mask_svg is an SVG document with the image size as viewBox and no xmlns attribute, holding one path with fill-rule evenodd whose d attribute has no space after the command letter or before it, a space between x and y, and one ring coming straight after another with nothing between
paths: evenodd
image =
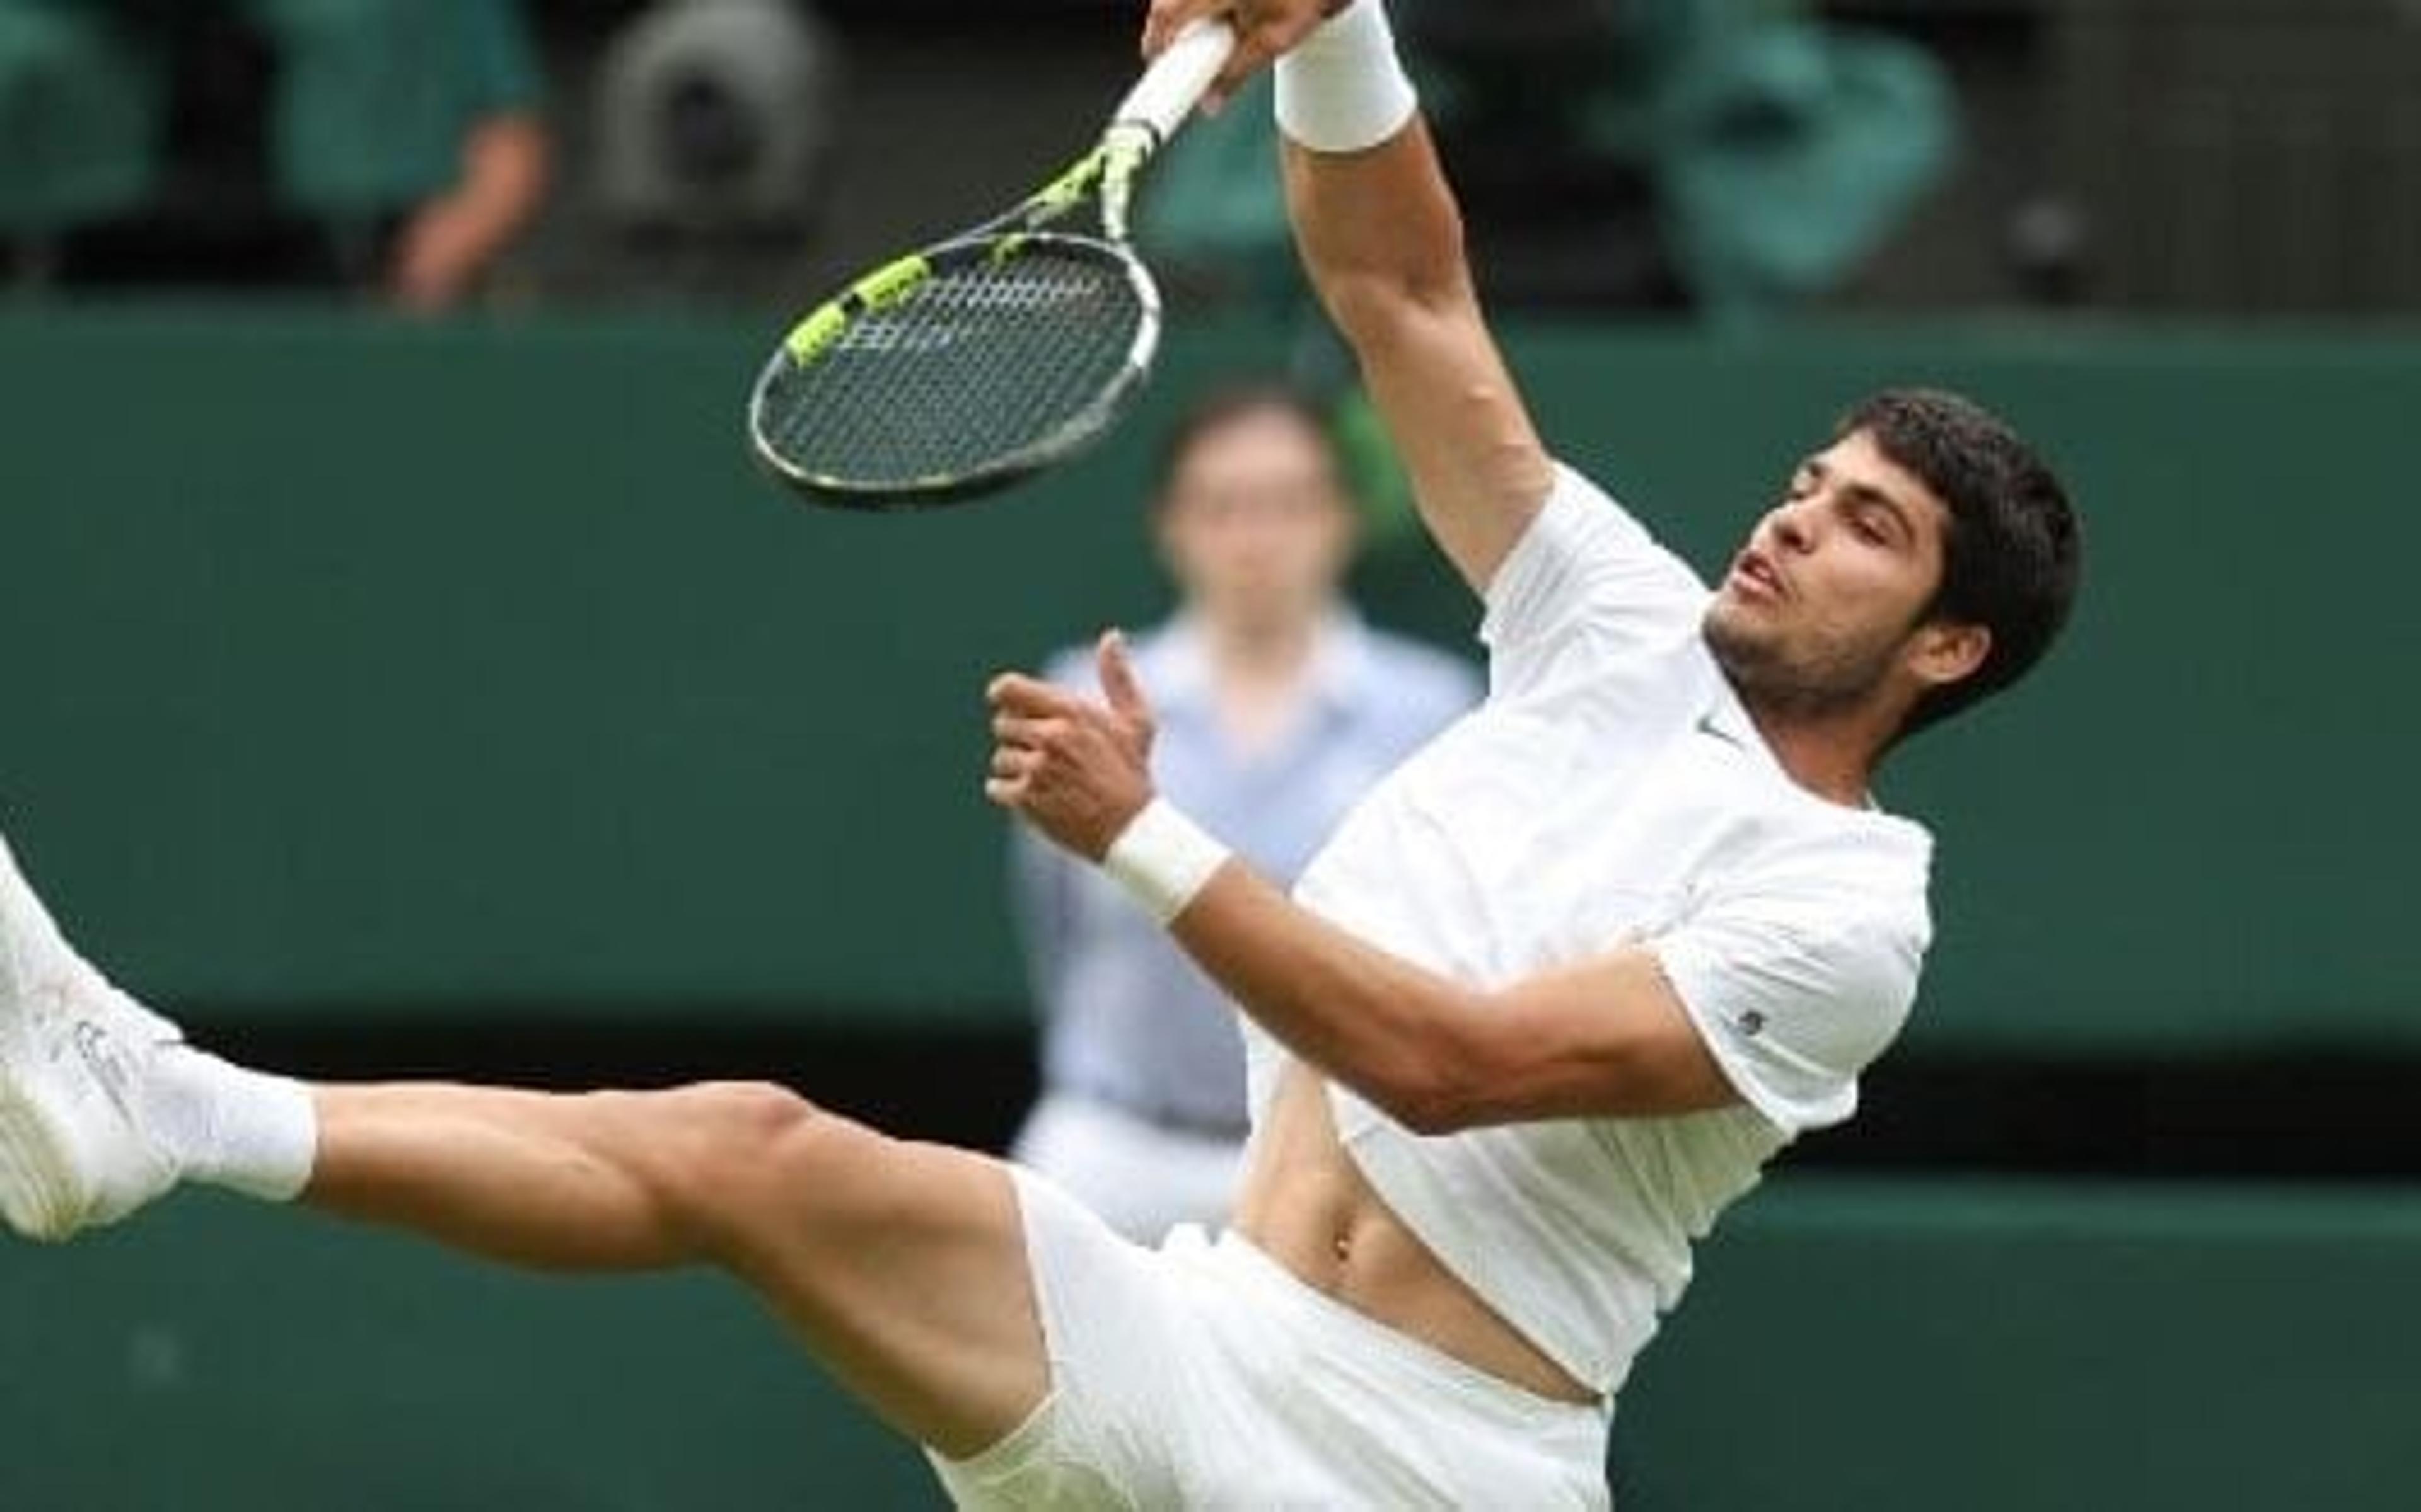
<instances>
[{"instance_id":1,"label":"blurred face of the background person in light blue shirt","mask_svg":"<svg viewBox=\"0 0 2421 1512\"><path fill-rule=\"evenodd\" d=\"M1194 612L1244 631L1324 614L1353 552L1353 510L1327 443L1281 409L1196 435L1162 494L1157 530Z\"/></svg>"}]
</instances>

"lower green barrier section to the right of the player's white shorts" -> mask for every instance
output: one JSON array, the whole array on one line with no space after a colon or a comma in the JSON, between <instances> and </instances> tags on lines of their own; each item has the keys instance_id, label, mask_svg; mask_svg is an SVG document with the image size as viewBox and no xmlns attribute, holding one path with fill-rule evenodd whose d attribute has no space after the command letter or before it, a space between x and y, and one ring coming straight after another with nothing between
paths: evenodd
<instances>
[{"instance_id":1,"label":"lower green barrier section to the right of the player's white shorts","mask_svg":"<svg viewBox=\"0 0 2421 1512\"><path fill-rule=\"evenodd\" d=\"M1782 1178L1615 1427L1620 1512L2421 1505L2421 1195Z\"/></svg>"}]
</instances>

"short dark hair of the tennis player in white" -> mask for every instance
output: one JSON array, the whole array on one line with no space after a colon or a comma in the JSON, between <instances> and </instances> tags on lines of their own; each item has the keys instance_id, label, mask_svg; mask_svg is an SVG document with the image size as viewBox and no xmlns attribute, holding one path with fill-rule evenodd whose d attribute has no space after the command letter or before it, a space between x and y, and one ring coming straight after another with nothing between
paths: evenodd
<instances>
[{"instance_id":1,"label":"short dark hair of the tennis player in white","mask_svg":"<svg viewBox=\"0 0 2421 1512\"><path fill-rule=\"evenodd\" d=\"M2009 687L2043 658L2077 598L2084 542L2068 491L2017 431L1942 389L1884 389L1840 419L1833 438L1864 431L1949 508L1942 583L1920 614L1983 624L1983 665L1930 689L1900 738Z\"/></svg>"}]
</instances>

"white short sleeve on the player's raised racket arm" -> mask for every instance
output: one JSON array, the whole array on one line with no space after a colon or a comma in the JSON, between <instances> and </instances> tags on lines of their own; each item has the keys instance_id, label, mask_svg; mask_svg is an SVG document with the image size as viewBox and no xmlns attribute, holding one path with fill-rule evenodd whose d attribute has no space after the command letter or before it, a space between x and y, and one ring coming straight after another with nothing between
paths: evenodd
<instances>
[{"instance_id":1,"label":"white short sleeve on the player's raised racket arm","mask_svg":"<svg viewBox=\"0 0 2421 1512\"><path fill-rule=\"evenodd\" d=\"M1586 477L1554 469L1554 489L1486 588L1479 639L1491 692L1525 692L1554 668L1603 668L1627 651L1697 634L1707 588L1690 566ZM1586 658L1566 656L1586 644Z\"/></svg>"}]
</instances>

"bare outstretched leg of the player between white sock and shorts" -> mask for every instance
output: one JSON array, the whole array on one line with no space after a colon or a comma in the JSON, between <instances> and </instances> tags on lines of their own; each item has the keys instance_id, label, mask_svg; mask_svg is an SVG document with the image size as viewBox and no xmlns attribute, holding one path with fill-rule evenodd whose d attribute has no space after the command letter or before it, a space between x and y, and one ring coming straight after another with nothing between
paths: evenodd
<instances>
[{"instance_id":1,"label":"bare outstretched leg of the player between white sock and shorts","mask_svg":"<svg viewBox=\"0 0 2421 1512\"><path fill-rule=\"evenodd\" d=\"M951 1456L1048 1391L1000 1161L765 1084L317 1089L305 1202L537 1270L719 1265L886 1422Z\"/></svg>"}]
</instances>

